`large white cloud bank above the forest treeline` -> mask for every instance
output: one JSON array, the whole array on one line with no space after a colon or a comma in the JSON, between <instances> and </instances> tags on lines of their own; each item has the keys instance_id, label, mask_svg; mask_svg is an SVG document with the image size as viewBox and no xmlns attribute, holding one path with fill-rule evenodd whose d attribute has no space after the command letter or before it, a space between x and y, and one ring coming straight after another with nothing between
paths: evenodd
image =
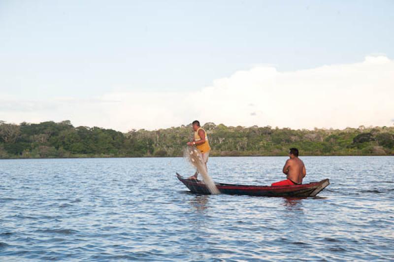
<instances>
[{"instance_id":1,"label":"large white cloud bank above the forest treeline","mask_svg":"<svg viewBox=\"0 0 394 262\"><path fill-rule=\"evenodd\" d=\"M361 63L290 72L256 66L191 92L111 92L72 103L41 101L41 107L34 109L30 104L30 111L21 112L3 105L0 120L69 119L74 125L120 131L167 128L195 119L233 126L308 129L391 126L393 97L394 61L370 56ZM47 110L46 103L50 105Z\"/></svg>"}]
</instances>

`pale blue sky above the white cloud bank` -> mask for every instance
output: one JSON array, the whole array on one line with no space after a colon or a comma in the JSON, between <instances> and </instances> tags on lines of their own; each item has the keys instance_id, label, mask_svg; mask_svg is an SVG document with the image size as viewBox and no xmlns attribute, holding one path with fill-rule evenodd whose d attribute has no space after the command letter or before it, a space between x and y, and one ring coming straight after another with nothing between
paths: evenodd
<instances>
[{"instance_id":1,"label":"pale blue sky above the white cloud bank","mask_svg":"<svg viewBox=\"0 0 394 262\"><path fill-rule=\"evenodd\" d=\"M256 66L289 72L393 59L393 29L391 0L2 0L0 118L22 120L6 108L12 101L193 92ZM50 117L40 110L24 121Z\"/></svg>"}]
</instances>

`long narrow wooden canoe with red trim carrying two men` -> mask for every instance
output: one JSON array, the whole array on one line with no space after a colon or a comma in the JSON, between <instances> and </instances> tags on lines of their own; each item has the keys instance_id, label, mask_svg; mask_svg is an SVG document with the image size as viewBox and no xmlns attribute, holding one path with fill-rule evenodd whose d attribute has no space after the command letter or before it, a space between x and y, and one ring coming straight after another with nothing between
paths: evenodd
<instances>
[{"instance_id":1,"label":"long narrow wooden canoe with red trim carrying two men","mask_svg":"<svg viewBox=\"0 0 394 262\"><path fill-rule=\"evenodd\" d=\"M209 195L205 184L200 180L187 179L176 173L178 179L193 193ZM260 197L315 197L320 191L329 185L328 179L320 182L294 186L246 186L215 183L222 194L249 195Z\"/></svg>"}]
</instances>

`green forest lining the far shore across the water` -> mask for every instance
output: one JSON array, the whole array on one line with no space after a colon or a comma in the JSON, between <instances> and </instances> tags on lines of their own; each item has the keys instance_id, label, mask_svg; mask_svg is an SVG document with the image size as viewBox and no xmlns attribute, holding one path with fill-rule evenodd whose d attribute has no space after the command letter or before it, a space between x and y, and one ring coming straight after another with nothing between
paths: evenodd
<instances>
[{"instance_id":1,"label":"green forest lining the far shore across the water","mask_svg":"<svg viewBox=\"0 0 394 262\"><path fill-rule=\"evenodd\" d=\"M394 155L394 127L344 130L227 127L206 123L211 156ZM178 157L192 137L191 126L127 133L98 127L74 127L70 121L8 124L0 121L0 159L85 157Z\"/></svg>"}]
</instances>

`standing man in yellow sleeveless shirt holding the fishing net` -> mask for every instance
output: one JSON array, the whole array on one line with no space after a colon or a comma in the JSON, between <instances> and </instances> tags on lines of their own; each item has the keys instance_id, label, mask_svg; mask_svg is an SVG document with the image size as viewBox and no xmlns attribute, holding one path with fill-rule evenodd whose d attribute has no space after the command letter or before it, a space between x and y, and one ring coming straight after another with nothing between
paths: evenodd
<instances>
[{"instance_id":1,"label":"standing man in yellow sleeveless shirt holding the fishing net","mask_svg":"<svg viewBox=\"0 0 394 262\"><path fill-rule=\"evenodd\" d=\"M206 131L200 127L199 121L193 121L192 125L194 131L193 142L188 142L187 145L197 147L197 149L201 152L202 161L205 164L205 168L208 170L206 163L208 162L209 151L211 150L208 142L208 136L206 135ZM189 179L197 179L197 176L198 170L193 176L189 177Z\"/></svg>"}]
</instances>

